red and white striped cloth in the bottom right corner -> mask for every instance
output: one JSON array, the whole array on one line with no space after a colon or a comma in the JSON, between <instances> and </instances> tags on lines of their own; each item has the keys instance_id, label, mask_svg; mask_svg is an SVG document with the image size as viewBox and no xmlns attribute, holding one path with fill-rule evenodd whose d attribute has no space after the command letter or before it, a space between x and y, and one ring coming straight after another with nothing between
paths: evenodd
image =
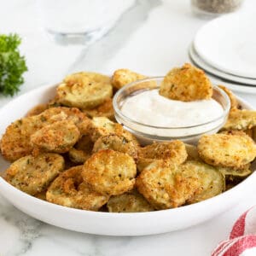
<instances>
[{"instance_id":1,"label":"red and white striped cloth in the bottom right corner","mask_svg":"<svg viewBox=\"0 0 256 256\"><path fill-rule=\"evenodd\" d=\"M236 220L230 239L218 244L212 256L255 256L256 255L256 207L244 212Z\"/></svg>"}]
</instances>

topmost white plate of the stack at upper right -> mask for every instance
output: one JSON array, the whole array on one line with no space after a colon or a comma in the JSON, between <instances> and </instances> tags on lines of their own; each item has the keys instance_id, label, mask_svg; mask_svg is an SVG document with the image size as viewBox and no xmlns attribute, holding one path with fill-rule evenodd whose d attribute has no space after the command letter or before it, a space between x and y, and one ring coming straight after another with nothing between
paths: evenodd
<instances>
[{"instance_id":1,"label":"topmost white plate of the stack at upper right","mask_svg":"<svg viewBox=\"0 0 256 256\"><path fill-rule=\"evenodd\" d=\"M256 79L256 15L224 15L195 35L195 50L226 73Z\"/></svg>"}]
</instances>

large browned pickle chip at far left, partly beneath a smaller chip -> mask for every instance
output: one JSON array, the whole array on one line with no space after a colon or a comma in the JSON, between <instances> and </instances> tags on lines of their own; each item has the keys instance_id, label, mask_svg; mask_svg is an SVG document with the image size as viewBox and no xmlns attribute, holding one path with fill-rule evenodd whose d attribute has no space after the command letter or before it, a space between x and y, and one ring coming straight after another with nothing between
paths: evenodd
<instances>
[{"instance_id":1,"label":"large browned pickle chip at far left, partly beneath a smaller chip","mask_svg":"<svg viewBox=\"0 0 256 256\"><path fill-rule=\"evenodd\" d=\"M30 137L32 134L46 125L66 119L72 120L77 125L81 135L87 132L90 119L78 108L49 108L38 115L16 120L7 127L1 139L0 147L3 157L9 161L15 161L31 154Z\"/></svg>"}]
</instances>

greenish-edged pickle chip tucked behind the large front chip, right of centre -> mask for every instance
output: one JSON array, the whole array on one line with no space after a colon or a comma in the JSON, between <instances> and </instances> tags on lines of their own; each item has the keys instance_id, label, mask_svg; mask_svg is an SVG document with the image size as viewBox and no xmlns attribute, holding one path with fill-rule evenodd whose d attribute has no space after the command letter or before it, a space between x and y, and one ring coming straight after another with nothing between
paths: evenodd
<instances>
[{"instance_id":1,"label":"greenish-edged pickle chip tucked behind the large front chip, right of centre","mask_svg":"<svg viewBox=\"0 0 256 256\"><path fill-rule=\"evenodd\" d=\"M200 161L187 161L183 164L183 170L195 170L201 183L201 192L189 199L189 203L207 200L215 195L221 194L225 189L224 175L218 168L209 166Z\"/></svg>"}]
</instances>

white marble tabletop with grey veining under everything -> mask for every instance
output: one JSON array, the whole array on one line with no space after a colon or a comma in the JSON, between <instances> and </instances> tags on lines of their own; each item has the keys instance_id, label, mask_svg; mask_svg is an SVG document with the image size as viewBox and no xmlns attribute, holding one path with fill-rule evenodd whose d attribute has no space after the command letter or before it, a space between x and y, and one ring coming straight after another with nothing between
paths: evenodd
<instances>
[{"instance_id":1,"label":"white marble tabletop with grey veining under everything","mask_svg":"<svg viewBox=\"0 0 256 256\"><path fill-rule=\"evenodd\" d=\"M29 68L19 94L79 70L112 73L128 67L148 75L163 75L170 67L188 61L189 43L207 22L191 14L188 0L129 0L118 22L94 44L65 47L54 44L39 28L34 3L1 1L0 32L20 33ZM247 0L241 12L255 8L255 1ZM256 96L239 95L256 108ZM0 107L10 100L0 97ZM0 197L0 255L209 255L218 241L227 238L241 212L255 203L253 195L248 195L229 212L188 230L159 236L107 237L41 223Z\"/></svg>"}]
</instances>

